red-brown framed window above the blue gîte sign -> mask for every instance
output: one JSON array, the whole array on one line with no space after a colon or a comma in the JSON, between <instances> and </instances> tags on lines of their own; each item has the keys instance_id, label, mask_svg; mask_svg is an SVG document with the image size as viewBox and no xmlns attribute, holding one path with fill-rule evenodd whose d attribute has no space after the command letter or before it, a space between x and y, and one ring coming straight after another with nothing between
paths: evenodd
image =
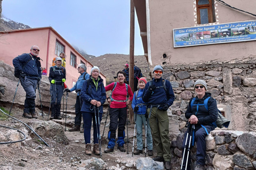
<instances>
[{"instance_id":1,"label":"red-brown framed window above the blue g\u00eete sign","mask_svg":"<svg viewBox=\"0 0 256 170\"><path fill-rule=\"evenodd\" d=\"M196 0L197 23L216 22L214 0Z\"/></svg>"}]
</instances>

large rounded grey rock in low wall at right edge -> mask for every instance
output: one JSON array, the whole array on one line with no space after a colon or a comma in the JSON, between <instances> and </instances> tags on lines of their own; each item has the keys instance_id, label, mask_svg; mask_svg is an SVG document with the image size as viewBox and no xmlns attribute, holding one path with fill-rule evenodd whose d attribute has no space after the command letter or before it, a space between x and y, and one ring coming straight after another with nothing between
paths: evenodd
<instances>
[{"instance_id":1,"label":"large rounded grey rock in low wall at right edge","mask_svg":"<svg viewBox=\"0 0 256 170\"><path fill-rule=\"evenodd\" d=\"M246 155L253 157L256 152L256 134L254 132L245 132L239 135L236 139L236 145Z\"/></svg>"}]
</instances>

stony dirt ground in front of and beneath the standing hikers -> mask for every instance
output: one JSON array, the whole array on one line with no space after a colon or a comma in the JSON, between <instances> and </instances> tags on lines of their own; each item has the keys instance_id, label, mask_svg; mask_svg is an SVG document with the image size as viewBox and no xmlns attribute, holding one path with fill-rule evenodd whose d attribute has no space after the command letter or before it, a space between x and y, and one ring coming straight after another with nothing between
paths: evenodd
<instances>
[{"instance_id":1,"label":"stony dirt ground in front of and beneath the standing hikers","mask_svg":"<svg viewBox=\"0 0 256 170\"><path fill-rule=\"evenodd\" d=\"M6 108L9 110L10 108ZM47 109L45 108L44 113L47 113ZM0 113L1 115L2 113ZM13 108L12 109L13 117L21 120L23 122L29 122L31 119L22 117L22 109L21 108ZM69 118L74 118L70 116ZM45 116L47 117L47 116ZM42 116L38 117L39 120L43 120ZM47 121L47 118L45 118ZM103 114L101 121L101 135L103 132L103 127L106 120L106 114ZM64 121L64 120L62 120ZM10 125L13 122L12 118L9 118L7 121L0 121L0 125ZM109 120L107 121L108 124ZM19 123L19 122L17 122ZM25 126L25 125L23 125ZM41 137L50 147L44 145L44 143L39 140L38 137L32 137L31 139L26 139L21 142L20 146L17 144L4 144L0 145L0 169L2 170L16 170L16 169L78 169L78 166L81 164L82 160L90 159L92 157L100 158L100 156L96 156L92 154L91 156L87 156L84 154L85 152L85 143L84 143L84 135L80 132L69 132L67 127L67 131L65 132L67 138L69 139L69 145L63 145L61 143L55 142L51 138ZM28 128L26 128L28 129ZM63 126L65 129L65 126ZM0 127L0 131L5 131L5 128ZM125 143L124 147L126 152L121 152L116 149L114 152L110 154L105 154L103 150L107 147L107 132L108 127L105 129L105 134L102 139L102 157L101 159L107 163L107 169L115 169L114 167L120 167L121 169L136 169L134 166L125 167L126 163L133 163L140 157L145 157L144 149L142 155L133 155L132 157L132 142L133 142L133 132L134 132L134 124L128 125L128 133L129 133L129 144L128 144L128 152L127 152L127 143ZM125 130L125 133L127 131ZM144 133L144 132L143 132ZM91 132L91 136L92 136ZM145 134L145 133L144 133ZM136 138L134 151L136 148ZM156 151L154 150L154 156L156 156ZM154 157L153 156L153 157ZM89 169L89 168L88 168Z\"/></svg>"}]
</instances>

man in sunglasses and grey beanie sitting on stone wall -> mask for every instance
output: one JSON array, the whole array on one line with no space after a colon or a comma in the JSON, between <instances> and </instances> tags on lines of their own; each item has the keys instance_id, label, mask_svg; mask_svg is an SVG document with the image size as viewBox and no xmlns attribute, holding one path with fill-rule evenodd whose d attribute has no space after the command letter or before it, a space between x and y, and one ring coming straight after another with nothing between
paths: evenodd
<instances>
[{"instance_id":1,"label":"man in sunglasses and grey beanie sitting on stone wall","mask_svg":"<svg viewBox=\"0 0 256 170\"><path fill-rule=\"evenodd\" d=\"M207 84L204 80L200 80L200 79L197 80L194 84L194 89L196 91L197 96L195 98L190 99L185 116L188 119L189 124L195 125L194 139L197 144L195 170L203 170L205 165L205 151L206 151L205 138L207 136L207 133L210 133L212 130L215 129L213 122L217 120L218 108L217 108L216 101L211 97L211 93L206 92ZM204 106L205 99L208 99L208 102L207 102L208 109L205 108ZM191 104L192 101L194 102ZM187 137L187 132L185 133L182 148L185 147L186 137ZM187 143L189 143L189 139ZM185 150L186 150L185 154L187 154L188 145L186 145ZM183 152L184 152L184 149L183 149ZM184 164L186 162L187 162L187 155L185 156L185 160L183 161L183 167L182 167L183 170L186 168L186 165ZM191 160L190 160L190 154L189 154L187 169L191 169L189 166L190 162Z\"/></svg>"}]
</instances>

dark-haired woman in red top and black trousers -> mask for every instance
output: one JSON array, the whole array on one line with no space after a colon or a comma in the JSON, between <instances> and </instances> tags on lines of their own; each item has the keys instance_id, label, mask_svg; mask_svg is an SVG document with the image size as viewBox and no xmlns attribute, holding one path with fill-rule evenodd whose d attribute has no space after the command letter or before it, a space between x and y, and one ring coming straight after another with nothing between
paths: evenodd
<instances>
[{"instance_id":1,"label":"dark-haired woman in red top and black trousers","mask_svg":"<svg viewBox=\"0 0 256 170\"><path fill-rule=\"evenodd\" d=\"M110 97L107 98L110 104L109 116L110 125L108 131L108 147L104 150L105 153L113 152L116 145L116 129L117 133L117 149L125 152L124 137L125 137L125 123L127 117L127 105L131 103L133 93L131 87L125 83L125 73L123 71L117 72L118 82L111 83L105 87L106 91L112 90ZM129 96L129 97L128 97Z\"/></svg>"}]
</instances>

